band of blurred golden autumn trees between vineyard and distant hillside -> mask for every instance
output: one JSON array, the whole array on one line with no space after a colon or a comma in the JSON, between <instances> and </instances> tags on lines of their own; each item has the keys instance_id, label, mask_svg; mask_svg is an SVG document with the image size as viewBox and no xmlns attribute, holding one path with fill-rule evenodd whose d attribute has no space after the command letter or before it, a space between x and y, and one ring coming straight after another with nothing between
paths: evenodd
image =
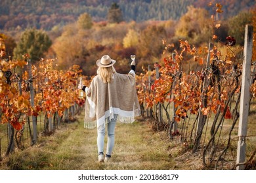
<instances>
[{"instance_id":1,"label":"band of blurred golden autumn trees between vineyard and distant hillside","mask_svg":"<svg viewBox=\"0 0 256 183\"><path fill-rule=\"evenodd\" d=\"M13 1L13 3L14 2L15 1ZM24 1L24 3L25 2L28 1ZM33 1L33 3L36 2L39 4L41 1ZM48 1L43 2L47 3ZM60 1L58 6L62 5L61 2L62 1ZM80 1L75 2L79 3ZM92 3L93 1L90 2ZM108 1L104 1L106 6L108 5L107 2ZM244 9L250 7L251 1L244 3L244 6L240 7L240 11L237 12L236 16L227 15L223 5L221 5L220 12L215 12L214 8L216 7L214 4L205 5L200 3L200 1L197 1L195 5L205 5L206 8L194 7L192 5L186 7L187 3L182 1L184 3L181 2L177 4L180 8L184 5L186 7L184 10L186 9L186 12L184 12L183 15L179 15L181 17L178 20L167 18L167 20L150 19L142 22L126 21L126 13L122 8L121 2L122 1L120 1L120 5L116 4L117 7L114 7L114 11L112 10L112 7L106 7L108 12L106 12L107 15L105 20L98 22L95 21L95 16L84 12L83 14L79 14L77 18L73 17L72 19L74 20L72 20L72 22L66 22L64 25L60 25L50 18L49 22L54 24L54 26L51 25L53 27L48 31L47 27L45 27L45 29L43 27L39 29L37 26L33 27L31 24L30 29L38 30L45 34L43 37L46 37L47 40L45 40L44 44L48 45L45 48L49 48L46 49L47 52L43 52L44 54L32 57L32 60L35 59L34 61L36 61L40 58L58 58L58 64L61 65L62 69L68 69L73 64L76 64L81 67L84 75L91 76L94 75L96 71L95 61L96 59L101 58L102 54L108 53L112 58L117 59L118 62L116 67L118 72L127 72L129 70L129 56L131 54L136 54L138 72L141 72L142 67L146 68L148 65L153 66L156 62L163 62L162 58L164 56L162 55L162 52L165 48L165 45L163 44L164 42L174 44L175 47L173 50L179 50L179 40L181 39L187 40L195 46L207 46L208 42L212 41L213 35L216 35L216 42L225 44L226 37L231 36L236 39L236 45L241 46L244 44L243 27L245 24L250 24L253 20L253 7L251 7L249 11L243 10L243 7ZM156 3L156 1L144 1L143 3L154 2ZM167 3L168 1L157 2ZM7 3L7 1L5 3ZM52 2L49 1L49 3ZM142 1L134 1L133 3L142 3ZM35 4L35 7L37 7L36 5L37 4ZM57 4L53 4L49 9L45 9L45 11L50 11L51 7L54 7L54 5ZM95 6L96 3L90 5ZM230 4L229 6L231 5L234 4ZM169 3L169 6L175 6L175 3ZM167 7L167 5L159 10L138 10L137 12L149 14L150 12L164 12L164 7ZM63 9L67 10L67 8ZM72 10L77 10L77 8L72 8ZM131 10L131 8L129 8L129 10ZM33 18L36 17L32 14L30 14L30 16ZM53 16L53 14L51 14L51 16ZM56 16L56 14L54 14L54 16ZM215 17L214 19L213 16ZM18 18L20 16L16 17ZM63 17L62 14L62 18ZM30 18L30 21L32 21L33 18ZM144 16L144 18L146 18L146 16ZM14 19L8 16L8 20L11 21ZM43 26L43 23L41 23L40 20L35 20L34 22ZM46 22L48 22L48 20ZM17 24L19 24L18 26L26 25L22 24L20 20L17 20ZM218 25L217 28L215 27L216 25ZM22 54L30 49L27 48L30 47L28 45L32 45L32 42L35 42L33 37L30 40L26 38L26 32L28 33L30 29L23 30L20 27L20 29L10 31L3 30L3 33L7 35L5 44L8 56L11 56L14 59L21 59L20 57ZM16 51L14 51L15 47ZM38 46L34 46L34 48L37 49L30 50L34 50L33 52L37 52L38 54ZM41 51L42 50L40 50L40 53ZM32 54L31 52L29 54ZM192 69L196 67L196 65L188 66L186 63L188 63L188 60L184 61L183 69L185 70L186 67L191 67Z\"/></svg>"}]
</instances>

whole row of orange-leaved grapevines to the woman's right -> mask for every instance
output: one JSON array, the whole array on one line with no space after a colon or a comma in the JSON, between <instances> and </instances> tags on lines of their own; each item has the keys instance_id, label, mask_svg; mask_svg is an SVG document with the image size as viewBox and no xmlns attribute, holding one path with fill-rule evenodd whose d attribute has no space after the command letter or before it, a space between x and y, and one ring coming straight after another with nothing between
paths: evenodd
<instances>
[{"instance_id":1,"label":"whole row of orange-leaved grapevines to the woman's right","mask_svg":"<svg viewBox=\"0 0 256 183\"><path fill-rule=\"evenodd\" d=\"M238 120L243 118L241 111L245 110L243 120L255 111L255 61L248 66L250 88L242 88L245 71L242 60L248 56L239 56L243 50L233 50L234 42L234 38L227 37L223 53L212 43L208 48L197 49L187 41L180 41L181 52L175 50L164 59L164 65L155 63L154 71L149 67L138 79L142 115L153 119L153 129L167 131L170 139L178 139L192 153L202 151L203 165L215 169L227 161L237 166L234 154L238 135L242 136L238 133ZM248 42L252 42L252 37ZM165 51L171 48L173 44L167 44ZM200 69L182 71L188 58L192 58L189 65L194 62ZM243 90L251 91L246 104L240 104ZM246 105L249 105L247 112ZM255 124L253 118L251 123ZM255 143L254 132L248 138ZM255 168L256 149L254 145L251 148L254 148L251 157L243 162L245 169Z\"/></svg>"}]
</instances>

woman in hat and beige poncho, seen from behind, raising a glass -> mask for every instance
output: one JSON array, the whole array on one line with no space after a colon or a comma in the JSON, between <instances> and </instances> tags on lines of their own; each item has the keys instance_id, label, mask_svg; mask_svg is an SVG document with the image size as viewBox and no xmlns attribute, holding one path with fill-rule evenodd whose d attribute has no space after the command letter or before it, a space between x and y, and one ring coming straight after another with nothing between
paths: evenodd
<instances>
[{"instance_id":1,"label":"woman in hat and beige poncho, seen from behind, raising a glass","mask_svg":"<svg viewBox=\"0 0 256 183\"><path fill-rule=\"evenodd\" d=\"M86 93L85 128L97 127L98 161L109 161L115 141L116 121L131 123L140 115L135 88L135 61L128 75L116 73L116 60L104 55L96 61L97 75L90 87L79 85ZM104 158L104 136L107 125L108 142Z\"/></svg>"}]
</instances>

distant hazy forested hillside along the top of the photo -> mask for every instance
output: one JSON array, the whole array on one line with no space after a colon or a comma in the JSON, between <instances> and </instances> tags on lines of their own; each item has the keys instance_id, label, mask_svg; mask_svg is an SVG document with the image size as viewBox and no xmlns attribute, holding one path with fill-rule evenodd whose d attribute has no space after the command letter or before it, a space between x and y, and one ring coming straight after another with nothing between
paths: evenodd
<instances>
[{"instance_id":1,"label":"distant hazy forested hillside along the top of the photo","mask_svg":"<svg viewBox=\"0 0 256 183\"><path fill-rule=\"evenodd\" d=\"M51 30L54 25L65 25L75 22L83 12L88 12L93 20L106 20L108 9L113 1L102 0L1 0L0 6L0 29L5 31L14 29L37 29ZM179 20L187 11L187 7L207 8L208 1L203 0L116 0L123 12L126 22L135 20ZM212 1L213 2L213 1ZM255 6L256 0L228 0L218 1L223 5L223 17L228 18L240 12L249 10ZM210 10L210 9L208 9Z\"/></svg>"}]
</instances>

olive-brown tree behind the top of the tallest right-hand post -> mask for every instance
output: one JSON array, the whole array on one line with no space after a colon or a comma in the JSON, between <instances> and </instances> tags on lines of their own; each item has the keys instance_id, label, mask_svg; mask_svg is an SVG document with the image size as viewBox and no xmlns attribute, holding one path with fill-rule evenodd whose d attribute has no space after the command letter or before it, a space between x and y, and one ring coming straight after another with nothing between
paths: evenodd
<instances>
[{"instance_id":1,"label":"olive-brown tree behind the top of the tallest right-hand post","mask_svg":"<svg viewBox=\"0 0 256 183\"><path fill-rule=\"evenodd\" d=\"M236 44L244 45L245 25L251 24L253 14L251 12L240 12L238 15L230 18L228 21L228 35L236 39Z\"/></svg>"}]
</instances>

